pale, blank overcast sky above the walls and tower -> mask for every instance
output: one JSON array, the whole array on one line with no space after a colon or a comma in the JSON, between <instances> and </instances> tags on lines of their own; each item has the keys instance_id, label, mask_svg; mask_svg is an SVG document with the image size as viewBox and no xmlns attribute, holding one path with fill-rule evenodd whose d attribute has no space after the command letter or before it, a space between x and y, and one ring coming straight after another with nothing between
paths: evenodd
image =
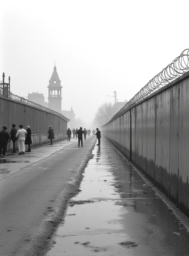
<instances>
[{"instance_id":1,"label":"pale, blank overcast sky above the walls and tower","mask_svg":"<svg viewBox=\"0 0 189 256\"><path fill-rule=\"evenodd\" d=\"M189 1L4 1L1 73L19 96L48 97L56 60L62 109L90 123L104 102L130 100L189 48ZM2 80L2 79L0 79Z\"/></svg>"}]
</instances>

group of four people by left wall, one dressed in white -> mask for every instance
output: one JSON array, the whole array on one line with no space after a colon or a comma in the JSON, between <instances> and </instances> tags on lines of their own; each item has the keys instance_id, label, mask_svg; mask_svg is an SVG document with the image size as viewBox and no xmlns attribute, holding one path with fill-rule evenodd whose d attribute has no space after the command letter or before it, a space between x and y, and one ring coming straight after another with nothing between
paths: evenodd
<instances>
[{"instance_id":1,"label":"group of four people by left wall, one dressed in white","mask_svg":"<svg viewBox=\"0 0 189 256\"><path fill-rule=\"evenodd\" d=\"M12 129L7 132L7 126L4 125L2 131L0 132L0 157L6 156L6 150L8 146L8 142L13 143L13 151L11 153L16 153L16 141L18 140L19 147L19 155L24 155L25 152L31 152L31 129L30 126L27 125L27 130L24 130L24 126L22 124L19 125L19 130L17 131L16 125L12 124ZM25 145L28 145L28 150L25 151Z\"/></svg>"}]
</instances>

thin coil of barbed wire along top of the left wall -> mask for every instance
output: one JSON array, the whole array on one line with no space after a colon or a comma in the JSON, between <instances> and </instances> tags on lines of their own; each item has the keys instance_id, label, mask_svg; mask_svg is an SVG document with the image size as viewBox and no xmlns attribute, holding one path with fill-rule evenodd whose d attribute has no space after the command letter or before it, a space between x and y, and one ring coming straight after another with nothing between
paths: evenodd
<instances>
[{"instance_id":1,"label":"thin coil of barbed wire along top of the left wall","mask_svg":"<svg viewBox=\"0 0 189 256\"><path fill-rule=\"evenodd\" d=\"M25 104L25 105L30 106L30 107L37 108L39 110L43 110L43 111L48 112L50 114L59 116L60 118L62 118L66 122L70 122L69 118L63 116L62 114L60 114L60 113L58 113L58 112L56 112L56 111L54 111L54 110L52 110L50 108L46 108L46 107L44 107L42 105L39 105L39 104L37 104L37 103L35 103L33 101L27 100L27 99L22 98L22 97L20 97L18 95L15 95L15 94L13 94L11 92L8 92L7 89L3 89L3 88L0 88L0 89L1 89L0 96L3 96L5 98L11 99L11 100L15 100L15 101L17 101L19 103Z\"/></svg>"}]
</instances>

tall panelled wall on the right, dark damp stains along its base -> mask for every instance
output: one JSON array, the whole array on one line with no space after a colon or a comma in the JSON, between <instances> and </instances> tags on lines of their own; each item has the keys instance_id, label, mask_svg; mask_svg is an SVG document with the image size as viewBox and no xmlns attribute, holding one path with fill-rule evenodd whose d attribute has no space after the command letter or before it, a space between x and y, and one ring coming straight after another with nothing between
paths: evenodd
<instances>
[{"instance_id":1,"label":"tall panelled wall on the right, dark damp stains along its base","mask_svg":"<svg viewBox=\"0 0 189 256\"><path fill-rule=\"evenodd\" d=\"M189 72L104 125L102 132L189 217Z\"/></svg>"}]
</instances>

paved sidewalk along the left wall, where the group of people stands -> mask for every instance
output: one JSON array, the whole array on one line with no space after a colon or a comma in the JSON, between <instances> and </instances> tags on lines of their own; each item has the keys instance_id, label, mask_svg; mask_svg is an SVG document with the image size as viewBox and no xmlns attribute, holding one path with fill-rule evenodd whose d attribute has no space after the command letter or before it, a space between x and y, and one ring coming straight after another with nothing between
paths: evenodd
<instances>
[{"instance_id":1,"label":"paved sidewalk along the left wall, where the group of people stands","mask_svg":"<svg viewBox=\"0 0 189 256\"><path fill-rule=\"evenodd\" d=\"M91 138L87 136L87 139ZM53 145L44 144L31 148L31 152L26 152L25 155L18 155L19 152L6 153L5 157L0 157L0 180L4 179L22 168L35 163L45 157L48 157L58 150L61 150L73 143L78 143L78 140L71 138L70 141L60 140L53 142Z\"/></svg>"}]
</instances>

